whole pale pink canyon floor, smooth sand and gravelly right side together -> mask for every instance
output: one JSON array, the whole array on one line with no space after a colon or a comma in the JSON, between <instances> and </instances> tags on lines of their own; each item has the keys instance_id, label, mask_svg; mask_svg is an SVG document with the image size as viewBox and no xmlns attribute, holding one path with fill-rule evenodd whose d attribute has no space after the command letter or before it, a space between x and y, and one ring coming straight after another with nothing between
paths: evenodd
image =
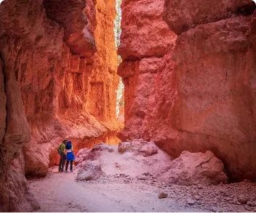
<instances>
[{"instance_id":1,"label":"whole pale pink canyon floor, smooth sand and gravelly right side together","mask_svg":"<svg viewBox=\"0 0 256 213\"><path fill-rule=\"evenodd\" d=\"M30 180L29 188L41 206L38 212L256 212L256 207L228 201L241 194L256 201L255 183L185 186L113 175L87 182L76 182L75 178L76 173L60 174L55 168L48 178ZM161 192L168 193L168 197L158 199ZM195 193L200 199L188 204L195 200Z\"/></svg>"}]
</instances>

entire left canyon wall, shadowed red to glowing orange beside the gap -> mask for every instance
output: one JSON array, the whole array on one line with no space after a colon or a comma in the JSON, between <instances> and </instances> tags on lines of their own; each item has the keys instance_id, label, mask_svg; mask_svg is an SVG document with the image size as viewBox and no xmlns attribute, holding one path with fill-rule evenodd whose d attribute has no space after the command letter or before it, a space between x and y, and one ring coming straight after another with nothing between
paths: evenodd
<instances>
[{"instance_id":1,"label":"entire left canyon wall, shadowed red to glowing orange beside the gap","mask_svg":"<svg viewBox=\"0 0 256 213\"><path fill-rule=\"evenodd\" d=\"M64 138L117 140L115 15L115 1L1 1L3 212L31 211L24 175L46 175Z\"/></svg>"}]
</instances>

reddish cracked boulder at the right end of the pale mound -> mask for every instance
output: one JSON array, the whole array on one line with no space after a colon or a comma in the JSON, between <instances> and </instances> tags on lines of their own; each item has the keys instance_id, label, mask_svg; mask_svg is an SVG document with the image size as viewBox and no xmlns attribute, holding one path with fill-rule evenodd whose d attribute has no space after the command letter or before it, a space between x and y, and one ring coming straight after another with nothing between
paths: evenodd
<instances>
[{"instance_id":1,"label":"reddish cracked boulder at the right end of the pale mound","mask_svg":"<svg viewBox=\"0 0 256 213\"><path fill-rule=\"evenodd\" d=\"M211 152L191 153L183 151L163 171L161 178L168 183L193 185L208 183L227 183L224 164Z\"/></svg>"}]
</instances>

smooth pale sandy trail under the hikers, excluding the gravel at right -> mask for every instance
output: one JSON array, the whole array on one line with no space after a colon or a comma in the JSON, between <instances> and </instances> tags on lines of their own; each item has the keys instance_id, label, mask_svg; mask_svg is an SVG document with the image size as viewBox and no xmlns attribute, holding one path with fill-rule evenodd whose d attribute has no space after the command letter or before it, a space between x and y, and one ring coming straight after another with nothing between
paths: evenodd
<instances>
[{"instance_id":1,"label":"smooth pale sandy trail under the hikers, excluding the gravel at right","mask_svg":"<svg viewBox=\"0 0 256 213\"><path fill-rule=\"evenodd\" d=\"M57 173L31 180L39 213L50 212L205 212L184 208L177 201L158 199L159 188L145 183L78 183L76 174Z\"/></svg>"}]
</instances>

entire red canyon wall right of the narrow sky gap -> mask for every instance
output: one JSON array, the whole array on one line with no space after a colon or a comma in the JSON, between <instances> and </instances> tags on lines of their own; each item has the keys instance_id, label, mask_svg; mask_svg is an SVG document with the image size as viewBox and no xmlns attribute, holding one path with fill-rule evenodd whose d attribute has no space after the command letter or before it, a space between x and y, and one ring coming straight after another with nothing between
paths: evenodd
<instances>
[{"instance_id":1,"label":"entire red canyon wall right of the narrow sky gap","mask_svg":"<svg viewBox=\"0 0 256 213\"><path fill-rule=\"evenodd\" d=\"M152 4L156 2L160 1ZM143 3L132 1L131 5L137 4ZM169 30L161 38L164 33L152 22L140 46L135 43L140 30L130 33L127 28L143 29L141 21L132 20L144 20L145 7L129 9L129 1L125 1L119 49L124 62L119 74L126 85L126 111L119 137L155 141L172 156L184 150L210 150L223 160L231 180L255 180L255 4L218 1L210 7L212 4L166 0L159 7L159 11L164 9L159 20L164 17ZM142 12L132 18L137 10ZM164 41L173 44L172 31L180 34L175 48L163 51L160 57L158 46L151 46L150 39L161 46ZM151 32L156 34L148 38ZM144 59L148 46L151 54ZM143 54L135 57L131 49Z\"/></svg>"}]
</instances>

